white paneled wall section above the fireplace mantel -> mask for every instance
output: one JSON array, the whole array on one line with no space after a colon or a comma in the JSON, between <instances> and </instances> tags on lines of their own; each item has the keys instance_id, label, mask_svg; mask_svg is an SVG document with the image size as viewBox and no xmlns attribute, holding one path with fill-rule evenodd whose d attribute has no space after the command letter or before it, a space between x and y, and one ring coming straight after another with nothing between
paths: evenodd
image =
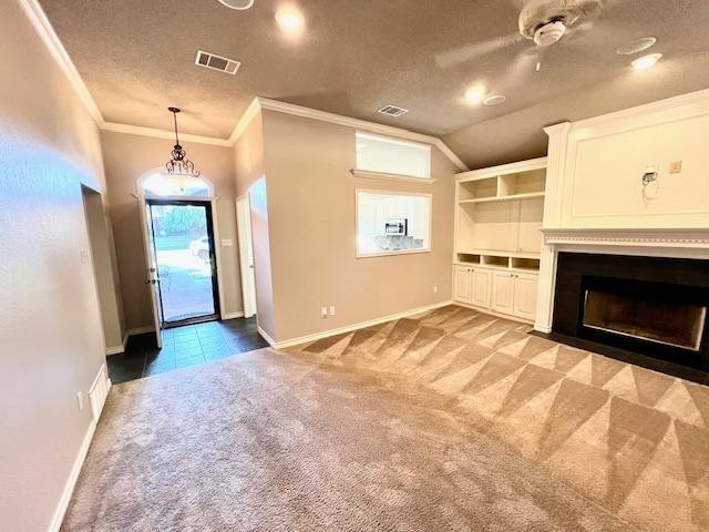
<instances>
[{"instance_id":1,"label":"white paneled wall section above the fireplace mantel","mask_svg":"<svg viewBox=\"0 0 709 532\"><path fill-rule=\"evenodd\" d=\"M709 227L709 91L552 131L546 227ZM659 176L644 194L648 166Z\"/></svg>"}]
</instances>

